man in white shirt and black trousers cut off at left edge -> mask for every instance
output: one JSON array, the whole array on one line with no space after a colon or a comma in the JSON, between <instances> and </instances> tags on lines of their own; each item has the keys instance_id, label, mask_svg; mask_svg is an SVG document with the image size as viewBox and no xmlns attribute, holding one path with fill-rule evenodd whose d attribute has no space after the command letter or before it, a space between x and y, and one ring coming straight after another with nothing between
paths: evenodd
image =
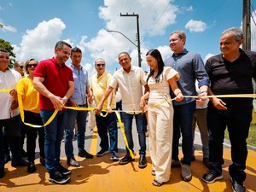
<instances>
[{"instance_id":1,"label":"man in white shirt and black trousers cut off at left edge","mask_svg":"<svg viewBox=\"0 0 256 192\"><path fill-rule=\"evenodd\" d=\"M4 176L3 127L7 132L9 147L12 152L12 166L27 166L28 162L20 154L20 111L17 105L15 86L21 79L20 73L9 67L9 52L0 49L0 178Z\"/></svg>"}]
</instances>

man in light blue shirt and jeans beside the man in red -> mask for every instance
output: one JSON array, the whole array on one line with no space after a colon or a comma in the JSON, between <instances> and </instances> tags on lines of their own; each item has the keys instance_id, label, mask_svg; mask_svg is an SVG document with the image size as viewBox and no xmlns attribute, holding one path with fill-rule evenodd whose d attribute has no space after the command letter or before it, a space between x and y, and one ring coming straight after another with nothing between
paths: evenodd
<instances>
[{"instance_id":1,"label":"man in light blue shirt and jeans beside the man in red","mask_svg":"<svg viewBox=\"0 0 256 192\"><path fill-rule=\"evenodd\" d=\"M88 81L88 72L80 65L82 60L82 51L78 47L71 49L70 58L72 60L72 65L70 66L73 71L73 79L75 89L73 96L70 97L68 104L73 107L87 108L87 96L89 100L90 86ZM85 158L93 158L92 154L89 154L84 149L84 133L86 126L86 117L88 111L77 111L72 109L67 109L67 125L65 129L65 152L67 155L67 165L69 166L79 166L79 162L75 160L73 154L73 130L75 122L78 125L77 141L79 148L79 156Z\"/></svg>"}]
</instances>

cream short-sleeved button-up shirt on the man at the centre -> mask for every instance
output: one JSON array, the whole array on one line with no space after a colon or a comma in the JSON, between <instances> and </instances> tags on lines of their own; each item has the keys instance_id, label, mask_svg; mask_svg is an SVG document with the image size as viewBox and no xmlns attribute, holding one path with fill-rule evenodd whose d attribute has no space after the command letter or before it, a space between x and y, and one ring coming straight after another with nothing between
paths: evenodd
<instances>
[{"instance_id":1,"label":"cream short-sleeved button-up shirt on the man at the centre","mask_svg":"<svg viewBox=\"0 0 256 192\"><path fill-rule=\"evenodd\" d=\"M131 71L126 73L120 68L113 73L109 86L115 89L117 85L122 96L122 108L126 113L141 113L139 108L140 99L143 96L144 72L141 67L131 66Z\"/></svg>"}]
</instances>

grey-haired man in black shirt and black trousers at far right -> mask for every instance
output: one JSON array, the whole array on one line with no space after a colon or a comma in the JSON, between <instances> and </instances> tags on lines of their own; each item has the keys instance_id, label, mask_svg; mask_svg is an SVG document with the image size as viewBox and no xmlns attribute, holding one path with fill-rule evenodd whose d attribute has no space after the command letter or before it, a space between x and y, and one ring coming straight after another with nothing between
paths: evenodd
<instances>
[{"instance_id":1,"label":"grey-haired man in black shirt and black trousers at far right","mask_svg":"<svg viewBox=\"0 0 256 192\"><path fill-rule=\"evenodd\" d=\"M253 94L252 78L256 78L256 52L242 50L241 28L225 30L220 38L221 54L207 60L206 70L211 81L210 96L230 94ZM209 172L202 180L213 183L222 179L223 142L226 127L231 143L232 164L229 166L234 191L245 191L243 181L247 160L247 142L252 120L252 98L213 97L208 104L207 125L209 129Z\"/></svg>"}]
</instances>

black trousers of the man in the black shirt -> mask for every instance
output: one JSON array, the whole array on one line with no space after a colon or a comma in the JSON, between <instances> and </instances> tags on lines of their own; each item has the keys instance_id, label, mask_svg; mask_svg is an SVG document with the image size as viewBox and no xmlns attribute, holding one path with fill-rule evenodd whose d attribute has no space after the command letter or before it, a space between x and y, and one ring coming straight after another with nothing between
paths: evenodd
<instances>
[{"instance_id":1,"label":"black trousers of the man in the black shirt","mask_svg":"<svg viewBox=\"0 0 256 192\"><path fill-rule=\"evenodd\" d=\"M224 131L228 128L231 143L230 176L242 182L246 179L247 137L252 121L252 109L237 111L218 110L209 104L207 111L207 125L209 129L209 169L221 174L223 159Z\"/></svg>"}]
</instances>

